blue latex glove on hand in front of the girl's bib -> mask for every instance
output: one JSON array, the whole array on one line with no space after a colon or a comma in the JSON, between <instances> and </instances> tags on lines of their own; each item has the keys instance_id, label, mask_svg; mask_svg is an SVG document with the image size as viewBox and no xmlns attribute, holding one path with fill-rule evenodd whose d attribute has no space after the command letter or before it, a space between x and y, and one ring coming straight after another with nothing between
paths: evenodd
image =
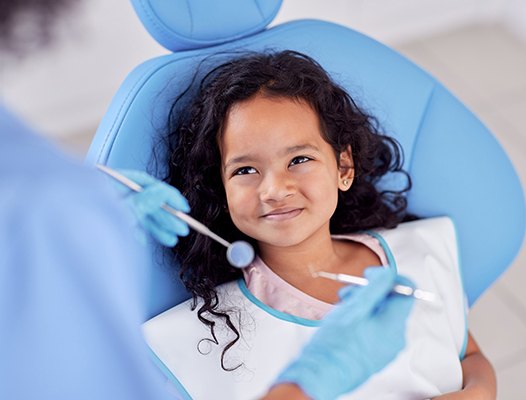
<instances>
[{"instance_id":1,"label":"blue latex glove on hand in front of the girl's bib","mask_svg":"<svg viewBox=\"0 0 526 400\"><path fill-rule=\"evenodd\" d=\"M368 268L365 277L367 286L340 290L341 302L276 384L295 383L313 399L335 399L395 359L405 346L414 298L391 289L396 283L413 284L386 268Z\"/></svg>"}]
</instances>

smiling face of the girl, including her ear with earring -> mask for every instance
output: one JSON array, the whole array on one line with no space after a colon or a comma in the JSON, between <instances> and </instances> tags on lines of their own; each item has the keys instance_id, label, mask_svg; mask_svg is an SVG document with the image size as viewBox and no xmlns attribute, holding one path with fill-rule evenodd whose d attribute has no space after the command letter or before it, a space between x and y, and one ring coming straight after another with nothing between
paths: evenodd
<instances>
[{"instance_id":1,"label":"smiling face of the girl, including her ear with earring","mask_svg":"<svg viewBox=\"0 0 526 400\"><path fill-rule=\"evenodd\" d=\"M338 167L308 103L256 95L234 104L220 149L230 216L260 249L330 234L338 190L351 186L352 159L350 149L343 152Z\"/></svg>"}]
</instances>

